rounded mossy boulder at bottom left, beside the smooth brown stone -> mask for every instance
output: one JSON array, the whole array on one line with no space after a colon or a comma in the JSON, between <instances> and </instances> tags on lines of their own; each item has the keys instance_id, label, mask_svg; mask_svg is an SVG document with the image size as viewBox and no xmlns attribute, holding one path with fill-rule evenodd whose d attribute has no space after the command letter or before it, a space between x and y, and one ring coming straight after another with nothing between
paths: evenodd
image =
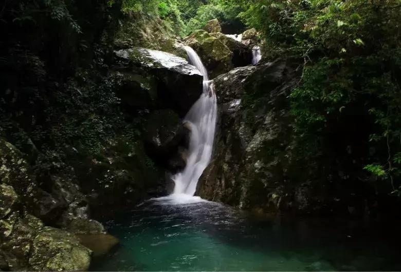
<instances>
[{"instance_id":1,"label":"rounded mossy boulder at bottom left, beside the smooth brown stone","mask_svg":"<svg viewBox=\"0 0 401 272\"><path fill-rule=\"evenodd\" d=\"M87 271L91 255L75 235L45 227L33 239L29 264L39 271Z\"/></svg>"}]
</instances>

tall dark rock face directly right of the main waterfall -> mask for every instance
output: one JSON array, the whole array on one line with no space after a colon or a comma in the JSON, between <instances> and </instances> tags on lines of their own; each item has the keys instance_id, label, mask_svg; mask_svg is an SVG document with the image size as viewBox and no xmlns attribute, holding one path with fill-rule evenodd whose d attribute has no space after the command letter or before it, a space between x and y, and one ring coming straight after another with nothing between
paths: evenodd
<instances>
[{"instance_id":1,"label":"tall dark rock face directly right of the main waterfall","mask_svg":"<svg viewBox=\"0 0 401 272\"><path fill-rule=\"evenodd\" d=\"M197 186L212 201L269 212L309 212L319 198L312 169L295 155L287 95L295 67L278 60L236 68L215 80L220 116L213 161ZM315 193L311 193L315 191Z\"/></svg>"}]
</instances>

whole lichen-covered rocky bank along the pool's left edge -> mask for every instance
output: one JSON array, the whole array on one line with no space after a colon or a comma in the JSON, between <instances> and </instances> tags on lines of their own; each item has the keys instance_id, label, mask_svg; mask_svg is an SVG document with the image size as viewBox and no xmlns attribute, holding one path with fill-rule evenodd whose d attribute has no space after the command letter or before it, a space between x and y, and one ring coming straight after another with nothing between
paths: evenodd
<instances>
[{"instance_id":1,"label":"whole lichen-covered rocky bank along the pool's left edge","mask_svg":"<svg viewBox=\"0 0 401 272\"><path fill-rule=\"evenodd\" d=\"M105 229L87 219L87 201L78 185L41 168L33 171L23 153L4 139L0 161L2 269L87 270L92 252L72 233L105 234Z\"/></svg>"}]
</instances>

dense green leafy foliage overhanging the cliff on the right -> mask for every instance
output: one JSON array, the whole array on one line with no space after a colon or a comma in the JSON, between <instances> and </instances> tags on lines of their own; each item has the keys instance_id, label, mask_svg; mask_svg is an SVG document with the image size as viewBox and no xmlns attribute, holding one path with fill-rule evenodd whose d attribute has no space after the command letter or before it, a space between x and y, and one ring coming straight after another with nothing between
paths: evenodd
<instances>
[{"instance_id":1,"label":"dense green leafy foliage overhanging the cliff on the right","mask_svg":"<svg viewBox=\"0 0 401 272\"><path fill-rule=\"evenodd\" d=\"M360 142L367 142L366 153L375 150L364 169L399 184L401 1L232 2L244 8L242 20L262 32L265 57L303 60L302 78L289 95L300 137L316 142L348 116L359 118L366 122Z\"/></svg>"}]
</instances>

